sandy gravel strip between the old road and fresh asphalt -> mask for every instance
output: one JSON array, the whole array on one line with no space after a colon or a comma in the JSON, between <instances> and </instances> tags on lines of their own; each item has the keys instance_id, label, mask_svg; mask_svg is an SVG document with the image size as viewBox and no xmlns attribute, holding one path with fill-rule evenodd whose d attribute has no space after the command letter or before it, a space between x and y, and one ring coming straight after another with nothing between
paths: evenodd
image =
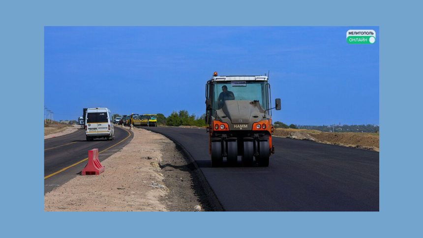
<instances>
[{"instance_id":1,"label":"sandy gravel strip between the old road and fresh asphalt","mask_svg":"<svg viewBox=\"0 0 423 238\"><path fill-rule=\"evenodd\" d=\"M46 193L45 211L194 211L204 199L192 168L165 136L133 128L134 138L102 162L98 176L77 176ZM197 207L196 207L197 206ZM200 206L200 207L198 207ZM199 209L200 208L200 209Z\"/></svg>"}]
</instances>

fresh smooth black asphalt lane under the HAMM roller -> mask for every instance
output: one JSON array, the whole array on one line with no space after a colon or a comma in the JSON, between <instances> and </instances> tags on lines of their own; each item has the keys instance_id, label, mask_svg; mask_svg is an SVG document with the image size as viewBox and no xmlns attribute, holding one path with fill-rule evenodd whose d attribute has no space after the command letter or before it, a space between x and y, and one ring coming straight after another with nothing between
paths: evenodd
<instances>
[{"instance_id":1,"label":"fresh smooth black asphalt lane under the HAMM roller","mask_svg":"<svg viewBox=\"0 0 423 238\"><path fill-rule=\"evenodd\" d=\"M273 137L269 167L212 168L205 129L143 128L188 151L224 210L379 210L378 152Z\"/></svg>"}]
</instances>

